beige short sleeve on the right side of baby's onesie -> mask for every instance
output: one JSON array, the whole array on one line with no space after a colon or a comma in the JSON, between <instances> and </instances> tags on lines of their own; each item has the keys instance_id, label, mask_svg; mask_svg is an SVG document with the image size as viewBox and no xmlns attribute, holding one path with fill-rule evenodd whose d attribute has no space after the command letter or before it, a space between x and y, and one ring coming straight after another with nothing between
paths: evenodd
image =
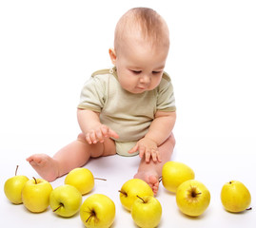
<instances>
[{"instance_id":1,"label":"beige short sleeve on the right side of baby's onesie","mask_svg":"<svg viewBox=\"0 0 256 228\"><path fill-rule=\"evenodd\" d=\"M173 86L167 73L163 75L162 81L158 86L156 109L160 111L176 110Z\"/></svg>"}]
</instances>

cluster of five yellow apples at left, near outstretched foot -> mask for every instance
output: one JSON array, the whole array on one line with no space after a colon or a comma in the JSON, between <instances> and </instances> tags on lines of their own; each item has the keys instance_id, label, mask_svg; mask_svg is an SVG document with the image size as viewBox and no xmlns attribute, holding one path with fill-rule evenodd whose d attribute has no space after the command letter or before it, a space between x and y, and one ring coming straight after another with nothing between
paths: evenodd
<instances>
[{"instance_id":1,"label":"cluster of five yellow apples at left, near outstretched foot","mask_svg":"<svg viewBox=\"0 0 256 228\"><path fill-rule=\"evenodd\" d=\"M33 213L44 212L50 206L55 214L65 218L72 217L80 210L86 227L109 227L113 223L115 204L107 196L93 194L82 204L82 196L92 190L96 179L89 169L71 170L65 184L52 189L47 180L29 180L26 176L17 175L17 168L15 176L6 180L4 186L5 194L13 204L23 203Z\"/></svg>"}]
</instances>

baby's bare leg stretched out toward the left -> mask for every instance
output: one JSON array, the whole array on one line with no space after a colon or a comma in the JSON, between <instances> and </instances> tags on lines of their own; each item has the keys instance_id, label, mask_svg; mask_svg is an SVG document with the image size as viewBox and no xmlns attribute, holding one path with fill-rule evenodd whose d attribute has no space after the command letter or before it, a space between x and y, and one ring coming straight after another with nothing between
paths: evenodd
<instances>
[{"instance_id":1,"label":"baby's bare leg stretched out toward the left","mask_svg":"<svg viewBox=\"0 0 256 228\"><path fill-rule=\"evenodd\" d=\"M27 161L43 179L52 181L76 167L83 166L90 157L114 153L115 144L112 140L107 138L103 143L89 144L84 135L80 134L76 141L59 150L52 158L46 154L35 154Z\"/></svg>"}]
</instances>

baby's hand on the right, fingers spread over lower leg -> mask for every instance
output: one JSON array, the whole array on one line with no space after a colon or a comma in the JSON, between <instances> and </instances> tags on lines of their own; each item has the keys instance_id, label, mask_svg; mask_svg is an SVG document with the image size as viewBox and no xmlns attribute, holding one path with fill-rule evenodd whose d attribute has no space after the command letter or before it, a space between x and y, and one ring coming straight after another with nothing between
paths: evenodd
<instances>
[{"instance_id":1,"label":"baby's hand on the right, fingers spread over lower leg","mask_svg":"<svg viewBox=\"0 0 256 228\"><path fill-rule=\"evenodd\" d=\"M132 154L137 151L139 151L139 156L141 159L145 156L146 162L149 162L150 159L152 159L154 162L162 161L161 155L158 151L157 143L148 138L143 138L138 141L137 144L128 151L128 153Z\"/></svg>"}]
</instances>

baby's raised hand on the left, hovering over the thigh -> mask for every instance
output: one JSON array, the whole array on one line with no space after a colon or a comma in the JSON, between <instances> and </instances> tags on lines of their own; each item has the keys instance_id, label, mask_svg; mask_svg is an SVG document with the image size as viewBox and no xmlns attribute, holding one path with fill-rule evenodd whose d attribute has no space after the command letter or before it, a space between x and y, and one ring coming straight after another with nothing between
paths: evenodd
<instances>
[{"instance_id":1,"label":"baby's raised hand on the left, hovering over the thigh","mask_svg":"<svg viewBox=\"0 0 256 228\"><path fill-rule=\"evenodd\" d=\"M86 139L89 144L104 142L104 138L115 138L118 139L119 136L115 131L111 130L107 125L99 124L95 129L91 129L86 133Z\"/></svg>"}]
</instances>

